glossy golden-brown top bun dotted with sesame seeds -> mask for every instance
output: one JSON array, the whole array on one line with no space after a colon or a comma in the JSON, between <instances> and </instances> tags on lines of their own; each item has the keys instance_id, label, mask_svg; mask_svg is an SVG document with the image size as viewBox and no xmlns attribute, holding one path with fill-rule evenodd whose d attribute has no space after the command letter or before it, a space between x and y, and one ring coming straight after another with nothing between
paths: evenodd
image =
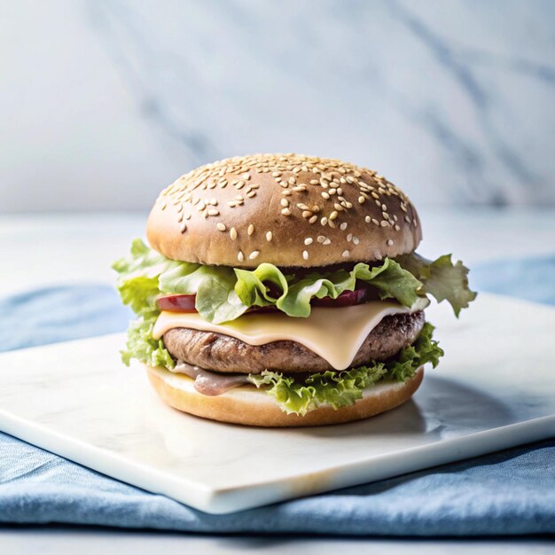
<instances>
[{"instance_id":1,"label":"glossy golden-brown top bun dotted with sesame seeds","mask_svg":"<svg viewBox=\"0 0 555 555\"><path fill-rule=\"evenodd\" d=\"M300 154L193 169L160 193L146 235L168 258L239 268L373 262L422 238L415 208L385 177Z\"/></svg>"}]
</instances>

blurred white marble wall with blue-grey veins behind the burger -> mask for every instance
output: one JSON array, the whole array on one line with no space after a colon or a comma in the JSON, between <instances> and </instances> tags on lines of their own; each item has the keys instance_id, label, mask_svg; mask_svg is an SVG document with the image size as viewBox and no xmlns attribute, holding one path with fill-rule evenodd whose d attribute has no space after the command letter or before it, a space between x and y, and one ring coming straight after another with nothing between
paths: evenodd
<instances>
[{"instance_id":1,"label":"blurred white marble wall with blue-grey veins behind the burger","mask_svg":"<svg viewBox=\"0 0 555 555\"><path fill-rule=\"evenodd\" d=\"M0 211L145 208L264 151L419 204L555 204L555 2L0 4Z\"/></svg>"}]
</instances>

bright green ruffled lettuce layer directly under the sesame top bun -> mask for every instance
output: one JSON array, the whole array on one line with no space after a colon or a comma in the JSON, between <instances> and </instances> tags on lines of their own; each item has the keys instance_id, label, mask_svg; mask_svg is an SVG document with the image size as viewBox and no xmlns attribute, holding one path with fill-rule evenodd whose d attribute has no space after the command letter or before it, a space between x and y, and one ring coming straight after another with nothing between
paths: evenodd
<instances>
[{"instance_id":1,"label":"bright green ruffled lettuce layer directly under the sesame top bun","mask_svg":"<svg viewBox=\"0 0 555 555\"><path fill-rule=\"evenodd\" d=\"M290 317L308 317L310 300L336 299L356 289L356 282L375 287L380 299L412 306L422 283L398 263L385 259L379 266L357 263L352 270L312 272L296 277L262 263L255 270L177 262L155 253L136 239L129 256L113 264L119 272L121 300L137 315L159 314L156 298L162 293L196 294L195 308L208 322L221 324L251 307L276 306Z\"/></svg>"}]
</instances>

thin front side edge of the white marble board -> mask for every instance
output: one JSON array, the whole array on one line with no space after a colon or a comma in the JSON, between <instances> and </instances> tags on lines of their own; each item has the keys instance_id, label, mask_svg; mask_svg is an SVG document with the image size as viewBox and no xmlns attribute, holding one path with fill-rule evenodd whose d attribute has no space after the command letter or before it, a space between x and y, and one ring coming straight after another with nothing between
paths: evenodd
<instances>
[{"instance_id":1,"label":"thin front side edge of the white marble board","mask_svg":"<svg viewBox=\"0 0 555 555\"><path fill-rule=\"evenodd\" d=\"M465 436L432 442L411 449L363 459L293 478L263 481L245 487L210 489L199 483L175 478L150 466L131 462L86 442L67 439L45 426L29 427L23 418L0 410L0 428L7 434L46 449L98 473L152 493L168 496L202 512L227 514L302 496L384 480L466 458L479 457L523 443L538 442L555 435L555 415L491 428ZM163 485L160 487L160 483Z\"/></svg>"}]
</instances>

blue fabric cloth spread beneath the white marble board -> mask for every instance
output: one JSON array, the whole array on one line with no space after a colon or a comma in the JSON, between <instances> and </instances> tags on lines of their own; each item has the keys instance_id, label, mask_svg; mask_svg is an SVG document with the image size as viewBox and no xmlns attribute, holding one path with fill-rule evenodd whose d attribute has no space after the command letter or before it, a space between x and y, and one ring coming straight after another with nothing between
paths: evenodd
<instances>
[{"instance_id":1,"label":"blue fabric cloth spread beneath the white marble board","mask_svg":"<svg viewBox=\"0 0 555 555\"><path fill-rule=\"evenodd\" d=\"M555 257L473 270L479 291L555 304ZM0 350L123 330L106 286L43 289L0 301ZM26 319L22 319L26 316ZM26 322L21 326L21 322ZM0 522L63 522L192 532L336 535L555 533L555 441L395 479L213 516L0 434Z\"/></svg>"}]
</instances>

